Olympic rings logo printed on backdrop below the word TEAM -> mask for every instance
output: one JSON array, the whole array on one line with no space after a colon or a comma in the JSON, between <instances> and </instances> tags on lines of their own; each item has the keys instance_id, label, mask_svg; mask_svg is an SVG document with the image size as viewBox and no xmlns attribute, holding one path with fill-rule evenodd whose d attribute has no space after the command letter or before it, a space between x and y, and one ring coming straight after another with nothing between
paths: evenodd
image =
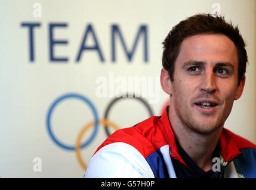
<instances>
[{"instance_id":1,"label":"Olympic rings logo printed on backdrop below the word TEAM","mask_svg":"<svg viewBox=\"0 0 256 190\"><path fill-rule=\"evenodd\" d=\"M52 118L54 109L55 109L55 107L57 105L59 105L61 102L63 102L64 100L67 100L67 99L78 99L78 100L81 100L82 102L84 102L85 104L87 104L91 108L93 116L94 116L94 121L89 122L88 124L84 125L84 127L79 132L78 137L76 138L75 146L61 143L61 141L58 140L55 137L55 135L53 134L53 131L52 131L51 118ZM146 102L146 100L144 100L142 97L135 96L135 94L132 94L132 96L128 96L128 94L126 94L126 96L120 96L120 97L114 98L109 103L109 105L107 106L106 111L104 113L104 118L103 119L98 119L97 110L95 109L95 106L92 104L92 102L88 99L88 97L82 96L81 94L69 93L69 94L64 94L63 96L58 97L51 104L51 106L50 106L50 108L48 110L48 113L47 113L47 131L48 131L48 134L50 135L50 137L54 141L54 143L57 144L59 147L64 148L66 150L75 151L76 157L78 158L79 164L82 166L83 169L86 170L87 169L87 164L85 164L83 162L83 160L82 160L80 149L87 147L87 145L89 145L94 140L94 138L95 138L95 136L96 136L96 134L98 132L98 125L99 124L104 126L105 132L106 132L108 137L110 136L110 131L109 131L109 127L110 126L113 129L115 129L115 130L119 129L119 127L116 124L114 124L113 122L108 120L108 116L109 116L109 112L110 112L110 109L112 108L112 106L116 102L118 102L119 100L122 100L122 99L135 99L135 100L138 100L139 102L143 103L143 105L147 108L149 116L153 116L153 111L152 111L150 105ZM165 107L168 106L168 105L169 105L169 101L166 101L164 106L162 106L161 115L164 112ZM83 135L92 126L94 126L94 129L92 131L91 137L87 141L85 141L84 143L81 144Z\"/></svg>"}]
</instances>

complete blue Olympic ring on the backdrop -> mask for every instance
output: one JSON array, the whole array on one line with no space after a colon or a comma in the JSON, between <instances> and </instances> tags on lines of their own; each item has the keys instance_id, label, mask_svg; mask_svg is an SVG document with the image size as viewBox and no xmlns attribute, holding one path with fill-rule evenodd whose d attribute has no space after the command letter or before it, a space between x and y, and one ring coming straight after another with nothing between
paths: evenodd
<instances>
[{"instance_id":1,"label":"complete blue Olympic ring on the backdrop","mask_svg":"<svg viewBox=\"0 0 256 190\"><path fill-rule=\"evenodd\" d=\"M92 132L91 137L89 138L89 140L87 140L84 144L81 145L81 148L86 147L88 144L91 143L91 141L94 139L95 135L97 134L97 130L98 130L98 115L96 112L95 107L92 105L92 103L90 102L90 100L88 100L86 97L81 96L79 94L65 94L64 96L59 97L57 100L54 101L53 105L51 105L49 111L48 111L48 115L47 115L47 129L48 132L50 134L50 137L53 139L54 143L56 143L58 146L60 146L61 148L67 149L67 150L75 150L75 146L70 146L70 145L65 145L63 143L60 143L60 141L57 140L57 138L54 137L53 132L51 131L51 114L53 112L54 107L60 103L62 100L64 99L68 99L68 98L77 98L79 100L84 101L85 103L87 103L93 112L94 115L94 120L95 120L95 124L94 124L94 131Z\"/></svg>"}]
</instances>

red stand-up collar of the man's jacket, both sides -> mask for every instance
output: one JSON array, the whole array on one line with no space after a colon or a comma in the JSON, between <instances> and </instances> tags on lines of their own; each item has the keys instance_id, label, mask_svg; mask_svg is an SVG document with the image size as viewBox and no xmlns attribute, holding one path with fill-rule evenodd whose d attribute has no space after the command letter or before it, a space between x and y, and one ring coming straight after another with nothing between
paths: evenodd
<instances>
[{"instance_id":1,"label":"red stand-up collar of the man's jacket, both sides","mask_svg":"<svg viewBox=\"0 0 256 190\"><path fill-rule=\"evenodd\" d=\"M163 115L161 116L161 130L163 131L163 134L165 135L165 140L168 142L171 152L171 157L174 157L175 159L178 159L181 163L187 164L184 162L184 160L181 158L180 154L178 154L177 144L175 141L174 132L172 131L171 123L169 122L169 116L167 109L169 109L169 106L166 107ZM230 135L230 131L223 128L223 131L220 135L220 153L223 157L225 162L230 162L233 160L236 156L239 154L242 154L239 151L238 146L236 145L235 141L232 138L232 135Z\"/></svg>"}]
</instances>

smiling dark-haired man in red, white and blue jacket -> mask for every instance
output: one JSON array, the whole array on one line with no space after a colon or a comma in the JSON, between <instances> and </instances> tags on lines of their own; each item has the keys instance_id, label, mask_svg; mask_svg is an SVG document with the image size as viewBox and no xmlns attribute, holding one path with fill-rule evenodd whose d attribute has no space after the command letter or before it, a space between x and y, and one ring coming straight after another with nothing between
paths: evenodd
<instances>
[{"instance_id":1,"label":"smiling dark-haired man in red, white and blue jacket","mask_svg":"<svg viewBox=\"0 0 256 190\"><path fill-rule=\"evenodd\" d=\"M161 117L114 132L85 178L256 178L256 145L224 129L245 85L238 27L198 14L177 24L163 44L169 106Z\"/></svg>"}]
</instances>

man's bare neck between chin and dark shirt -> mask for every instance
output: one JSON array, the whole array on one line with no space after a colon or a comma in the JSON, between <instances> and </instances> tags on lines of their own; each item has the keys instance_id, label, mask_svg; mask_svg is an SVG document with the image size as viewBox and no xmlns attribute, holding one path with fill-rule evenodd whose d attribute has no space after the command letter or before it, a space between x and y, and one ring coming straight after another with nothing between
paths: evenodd
<instances>
[{"instance_id":1,"label":"man's bare neck between chin and dark shirt","mask_svg":"<svg viewBox=\"0 0 256 190\"><path fill-rule=\"evenodd\" d=\"M182 125L181 122L176 122L170 115L169 113L172 131L183 150L201 169L205 171L212 169L212 153L215 150L223 128L211 134L201 134Z\"/></svg>"}]
</instances>

